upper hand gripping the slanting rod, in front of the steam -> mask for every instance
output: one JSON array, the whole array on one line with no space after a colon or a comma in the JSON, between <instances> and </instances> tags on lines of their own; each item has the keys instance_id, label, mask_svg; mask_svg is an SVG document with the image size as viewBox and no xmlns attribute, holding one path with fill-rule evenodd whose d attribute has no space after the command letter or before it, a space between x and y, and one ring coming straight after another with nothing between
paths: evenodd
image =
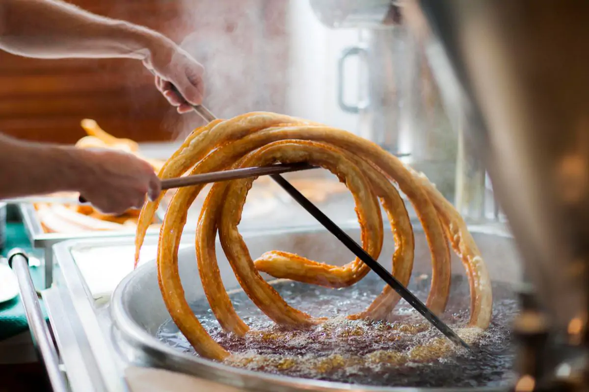
<instances>
[{"instance_id":1,"label":"upper hand gripping the slanting rod, in front of the steam","mask_svg":"<svg viewBox=\"0 0 589 392\"><path fill-rule=\"evenodd\" d=\"M178 113L190 112L203 102L204 67L188 52L168 39L157 41L143 61L155 73L155 86ZM173 91L173 86L180 92Z\"/></svg>"}]
</instances>

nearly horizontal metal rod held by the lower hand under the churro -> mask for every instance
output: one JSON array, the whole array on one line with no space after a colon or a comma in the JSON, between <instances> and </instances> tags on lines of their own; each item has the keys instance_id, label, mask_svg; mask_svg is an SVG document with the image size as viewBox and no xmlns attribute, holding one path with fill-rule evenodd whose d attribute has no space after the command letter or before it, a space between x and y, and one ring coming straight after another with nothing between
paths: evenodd
<instances>
[{"instance_id":1,"label":"nearly horizontal metal rod held by the lower hand under the churro","mask_svg":"<svg viewBox=\"0 0 589 392\"><path fill-rule=\"evenodd\" d=\"M210 172L197 174L193 176L184 176L162 180L161 189L173 189L183 186L206 184L211 182L229 181L247 177L267 176L280 173L298 172L300 170L316 169L315 166L306 164L286 165L277 163L272 166L263 167L245 167L243 169L221 170L220 172Z\"/></svg>"}]
</instances>

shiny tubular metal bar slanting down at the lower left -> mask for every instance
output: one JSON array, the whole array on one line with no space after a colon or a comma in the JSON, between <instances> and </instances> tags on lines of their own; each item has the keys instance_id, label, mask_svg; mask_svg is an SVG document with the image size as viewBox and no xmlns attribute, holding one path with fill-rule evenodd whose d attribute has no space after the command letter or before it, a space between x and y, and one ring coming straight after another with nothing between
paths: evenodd
<instances>
[{"instance_id":1,"label":"shiny tubular metal bar slanting down at the lower left","mask_svg":"<svg viewBox=\"0 0 589 392\"><path fill-rule=\"evenodd\" d=\"M49 383L55 392L67 392L65 379L59 370L57 349L53 344L49 327L41 311L41 305L37 297L37 291L29 272L29 259L20 249L12 249L8 253L8 265L12 267L18 280L18 289L21 292L22 305L29 323L29 330L39 360L47 369Z\"/></svg>"}]
</instances>

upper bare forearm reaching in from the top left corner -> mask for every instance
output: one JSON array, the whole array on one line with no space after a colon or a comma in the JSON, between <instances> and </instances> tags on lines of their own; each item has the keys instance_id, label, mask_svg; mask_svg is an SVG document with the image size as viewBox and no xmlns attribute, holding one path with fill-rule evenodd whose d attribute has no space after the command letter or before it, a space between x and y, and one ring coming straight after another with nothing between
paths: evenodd
<instances>
[{"instance_id":1,"label":"upper bare forearm reaching in from the top left corner","mask_svg":"<svg viewBox=\"0 0 589 392\"><path fill-rule=\"evenodd\" d=\"M167 38L59 0L0 1L0 48L35 58L135 58Z\"/></svg>"}]
</instances>

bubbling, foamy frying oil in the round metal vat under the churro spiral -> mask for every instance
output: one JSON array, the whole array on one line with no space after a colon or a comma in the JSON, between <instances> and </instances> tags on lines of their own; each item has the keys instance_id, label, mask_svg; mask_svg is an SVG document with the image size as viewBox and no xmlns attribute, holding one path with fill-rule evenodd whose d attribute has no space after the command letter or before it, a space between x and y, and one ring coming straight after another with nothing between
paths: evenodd
<instances>
[{"instance_id":1,"label":"bubbling, foamy frying oil in the round metal vat under the churro spiral","mask_svg":"<svg viewBox=\"0 0 589 392\"><path fill-rule=\"evenodd\" d=\"M429 278L409 286L425 299ZM284 376L372 386L478 387L504 386L511 380L514 358L509 324L517 312L516 295L508 284L494 283L494 311L486 331L466 327L468 282L452 277L451 296L442 320L477 354L455 347L405 301L388 321L348 320L345 315L365 309L382 289L373 273L352 287L326 289L280 281L274 287L290 305L312 316L330 317L305 329L281 327L269 320L243 292L231 294L239 316L250 326L244 337L221 330L206 300L192 309L207 331L233 355L230 366ZM194 353L173 321L158 331L158 339ZM195 354L196 355L196 354Z\"/></svg>"}]
</instances>

